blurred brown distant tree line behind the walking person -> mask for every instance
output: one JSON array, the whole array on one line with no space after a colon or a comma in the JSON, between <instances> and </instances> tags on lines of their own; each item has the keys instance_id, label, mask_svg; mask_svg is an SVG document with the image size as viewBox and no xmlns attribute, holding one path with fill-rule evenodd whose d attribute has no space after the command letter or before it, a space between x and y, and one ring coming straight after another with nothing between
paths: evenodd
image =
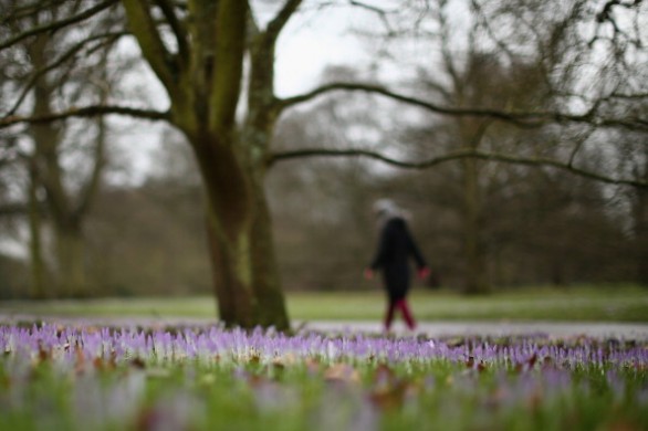
<instances>
[{"instance_id":1,"label":"blurred brown distant tree line behind the walking person","mask_svg":"<svg viewBox=\"0 0 648 431\"><path fill-rule=\"evenodd\" d=\"M351 115L334 102L286 117L278 141L333 143ZM358 115L359 113L355 113ZM304 127L317 117L317 127ZM347 123L348 124L345 124ZM418 130L406 130L407 136ZM167 134L140 186L103 187L86 223L86 296L189 295L210 292L203 192L195 161ZM279 266L289 291L368 291L362 278L374 250L374 200L395 199L433 270L418 288L466 288L461 175L458 164L385 171L364 159L313 159L282 165L269 178ZM484 167L485 169L485 167ZM491 288L633 283L646 285L646 236L635 232L627 188L534 167L491 168L483 187L479 241ZM335 178L335 181L331 181ZM621 204L619 204L621 202ZM2 260L2 296L28 297L29 262ZM55 296L55 292L50 292Z\"/></svg>"}]
</instances>

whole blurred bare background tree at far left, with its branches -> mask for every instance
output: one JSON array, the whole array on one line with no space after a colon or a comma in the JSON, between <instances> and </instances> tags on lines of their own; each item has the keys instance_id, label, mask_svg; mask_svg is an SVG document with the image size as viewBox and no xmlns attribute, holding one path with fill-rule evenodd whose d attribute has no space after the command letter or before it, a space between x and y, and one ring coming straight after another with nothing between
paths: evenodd
<instances>
[{"instance_id":1,"label":"whole blurred bare background tree at far left, with its branches","mask_svg":"<svg viewBox=\"0 0 648 431\"><path fill-rule=\"evenodd\" d=\"M6 76L15 85L11 105L6 106L6 116L21 111L31 111L33 117L52 115L62 98L75 102L94 96L100 104L106 102L107 87L111 85L107 57L115 42L123 35L113 31L115 21L94 20L77 25L74 31L51 29L50 32L38 31L28 38L20 38L20 34L29 33L30 30L42 25L46 28L52 17L80 13L82 7L81 1L52 2L46 6L7 1L3 24L12 34L19 35L8 48L12 57L7 60L23 60L20 69L14 72L9 70L9 76ZM87 35L80 41L79 32L87 32ZM17 69L15 64L9 64ZM86 126L90 124L85 122ZM79 124L73 122L34 124L29 129L32 148L22 151L29 172L25 207L31 236L32 291L35 297L48 294L88 294L83 224L106 164L107 138L102 118L95 122L94 139L87 128L81 136L73 132L75 127ZM84 153L88 156L83 157L83 165L90 165L90 168L70 168L66 161L71 159L70 154ZM42 213L48 217L54 233L53 272L58 292L46 292L44 286L46 270L41 241Z\"/></svg>"}]
</instances>

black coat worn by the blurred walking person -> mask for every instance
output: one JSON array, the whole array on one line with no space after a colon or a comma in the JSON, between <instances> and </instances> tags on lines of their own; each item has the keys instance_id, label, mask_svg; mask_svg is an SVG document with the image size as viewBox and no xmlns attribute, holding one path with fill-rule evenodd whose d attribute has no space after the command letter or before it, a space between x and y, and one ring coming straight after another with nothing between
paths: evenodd
<instances>
[{"instance_id":1,"label":"black coat worn by the blurred walking person","mask_svg":"<svg viewBox=\"0 0 648 431\"><path fill-rule=\"evenodd\" d=\"M383 271L385 287L391 301L404 298L409 291L409 257L414 257L419 269L427 266L405 220L390 219L380 232L378 250L369 266Z\"/></svg>"}]
</instances>

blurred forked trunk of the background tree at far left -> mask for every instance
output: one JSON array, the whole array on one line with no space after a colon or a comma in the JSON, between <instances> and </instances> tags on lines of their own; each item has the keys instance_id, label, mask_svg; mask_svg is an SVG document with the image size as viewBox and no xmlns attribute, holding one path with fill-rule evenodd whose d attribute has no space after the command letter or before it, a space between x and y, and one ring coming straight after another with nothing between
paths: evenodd
<instances>
[{"instance_id":1,"label":"blurred forked trunk of the background tree at far left","mask_svg":"<svg viewBox=\"0 0 648 431\"><path fill-rule=\"evenodd\" d=\"M46 35L39 35L30 45L30 60L34 70L43 70L48 65L48 50L51 40ZM105 59L104 59L105 61ZM102 73L102 77L104 74ZM34 84L33 114L48 116L52 114L51 104L54 101L55 84L49 83L46 76L40 76ZM107 95L101 94L102 103ZM106 139L103 118L98 120L98 135L94 151L94 167L86 183L82 185L77 196L65 187L65 172L61 160L61 139L63 134L59 125L44 123L32 126L34 155L30 162L32 190L30 200L36 201L35 189L42 187L45 191L48 216L52 222L55 240L56 282L58 294L63 296L87 296L88 283L86 276L85 250L83 238L83 218L85 217L94 195L101 182L104 166L104 147ZM33 206L32 206L33 207ZM30 211L30 229L32 233L32 276L33 292L43 296L43 262L41 261L40 221L39 213Z\"/></svg>"}]
</instances>

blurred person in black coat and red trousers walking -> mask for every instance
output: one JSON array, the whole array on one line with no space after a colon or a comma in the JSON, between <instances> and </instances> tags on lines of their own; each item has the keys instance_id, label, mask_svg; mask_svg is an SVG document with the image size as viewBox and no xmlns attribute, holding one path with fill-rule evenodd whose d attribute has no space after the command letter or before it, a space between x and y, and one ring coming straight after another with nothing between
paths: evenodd
<instances>
[{"instance_id":1,"label":"blurred person in black coat and red trousers walking","mask_svg":"<svg viewBox=\"0 0 648 431\"><path fill-rule=\"evenodd\" d=\"M403 314L407 327L414 330L416 320L407 304L410 287L409 257L414 257L421 280L430 274L430 270L409 233L405 212L389 199L376 201L373 210L378 219L380 236L374 260L365 270L365 277L372 280L377 270L383 274L388 298L384 319L385 330L389 332L396 309Z\"/></svg>"}]
</instances>

